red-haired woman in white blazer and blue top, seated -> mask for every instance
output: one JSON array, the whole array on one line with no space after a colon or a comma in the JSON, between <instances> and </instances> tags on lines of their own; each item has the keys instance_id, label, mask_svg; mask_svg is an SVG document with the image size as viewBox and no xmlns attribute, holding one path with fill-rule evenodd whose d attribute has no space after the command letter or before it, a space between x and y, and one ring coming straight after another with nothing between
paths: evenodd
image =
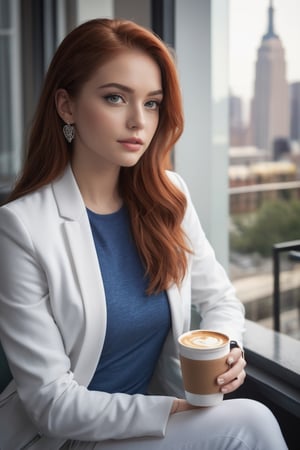
<instances>
[{"instance_id":1,"label":"red-haired woman in white blazer and blue top, seated","mask_svg":"<svg viewBox=\"0 0 300 450\"><path fill-rule=\"evenodd\" d=\"M240 344L244 319L184 182L164 169L182 129L172 56L150 31L92 20L64 39L0 210L13 374L1 449L286 448L258 403L183 399L176 341L191 303L201 327ZM228 363L224 393L245 378L238 346Z\"/></svg>"}]
</instances>

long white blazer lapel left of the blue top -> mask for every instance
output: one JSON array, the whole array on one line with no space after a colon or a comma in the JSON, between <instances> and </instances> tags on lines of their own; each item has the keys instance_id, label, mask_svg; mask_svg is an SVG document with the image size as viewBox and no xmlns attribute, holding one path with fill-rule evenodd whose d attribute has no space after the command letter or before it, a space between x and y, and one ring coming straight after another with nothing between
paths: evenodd
<instances>
[{"instance_id":1,"label":"long white blazer lapel left of the blue top","mask_svg":"<svg viewBox=\"0 0 300 450\"><path fill-rule=\"evenodd\" d=\"M86 208L70 167L62 178L53 183L53 192L59 215L65 219L63 227L85 313L84 335L81 348L78 349L80 358L75 361L74 376L79 383L88 384L95 371L106 333L103 281Z\"/></svg>"}]
</instances>

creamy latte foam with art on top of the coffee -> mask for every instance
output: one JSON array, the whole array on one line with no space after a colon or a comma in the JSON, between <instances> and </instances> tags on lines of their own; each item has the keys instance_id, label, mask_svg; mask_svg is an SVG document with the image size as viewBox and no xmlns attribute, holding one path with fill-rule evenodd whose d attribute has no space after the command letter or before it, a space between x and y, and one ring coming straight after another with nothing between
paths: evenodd
<instances>
[{"instance_id":1,"label":"creamy latte foam with art on top of the coffee","mask_svg":"<svg viewBox=\"0 0 300 450\"><path fill-rule=\"evenodd\" d=\"M225 345L227 336L214 331L197 330L186 333L180 338L182 345L191 348L212 349Z\"/></svg>"}]
</instances>

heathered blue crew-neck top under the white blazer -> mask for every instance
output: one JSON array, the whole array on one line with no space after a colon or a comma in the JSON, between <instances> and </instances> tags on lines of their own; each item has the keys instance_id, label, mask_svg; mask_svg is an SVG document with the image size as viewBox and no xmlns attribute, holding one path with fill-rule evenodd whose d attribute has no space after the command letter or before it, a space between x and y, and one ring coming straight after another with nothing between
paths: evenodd
<instances>
[{"instance_id":1,"label":"heathered blue crew-neck top under the white blazer","mask_svg":"<svg viewBox=\"0 0 300 450\"><path fill-rule=\"evenodd\" d=\"M127 208L87 212L107 303L104 347L89 389L145 394L171 327L167 295L145 292L148 280Z\"/></svg>"}]
</instances>

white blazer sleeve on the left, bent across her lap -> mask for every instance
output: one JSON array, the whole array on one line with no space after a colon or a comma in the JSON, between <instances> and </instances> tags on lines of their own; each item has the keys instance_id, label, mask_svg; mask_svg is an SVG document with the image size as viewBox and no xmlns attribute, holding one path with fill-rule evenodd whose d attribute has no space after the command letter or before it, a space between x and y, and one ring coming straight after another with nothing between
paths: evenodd
<instances>
[{"instance_id":1,"label":"white blazer sleeve on the left, bent across her lap","mask_svg":"<svg viewBox=\"0 0 300 450\"><path fill-rule=\"evenodd\" d=\"M173 397L94 392L76 382L38 252L9 206L0 208L0 255L0 340L37 430L89 441L163 436ZM7 414L13 424L9 407Z\"/></svg>"}]
</instances>

